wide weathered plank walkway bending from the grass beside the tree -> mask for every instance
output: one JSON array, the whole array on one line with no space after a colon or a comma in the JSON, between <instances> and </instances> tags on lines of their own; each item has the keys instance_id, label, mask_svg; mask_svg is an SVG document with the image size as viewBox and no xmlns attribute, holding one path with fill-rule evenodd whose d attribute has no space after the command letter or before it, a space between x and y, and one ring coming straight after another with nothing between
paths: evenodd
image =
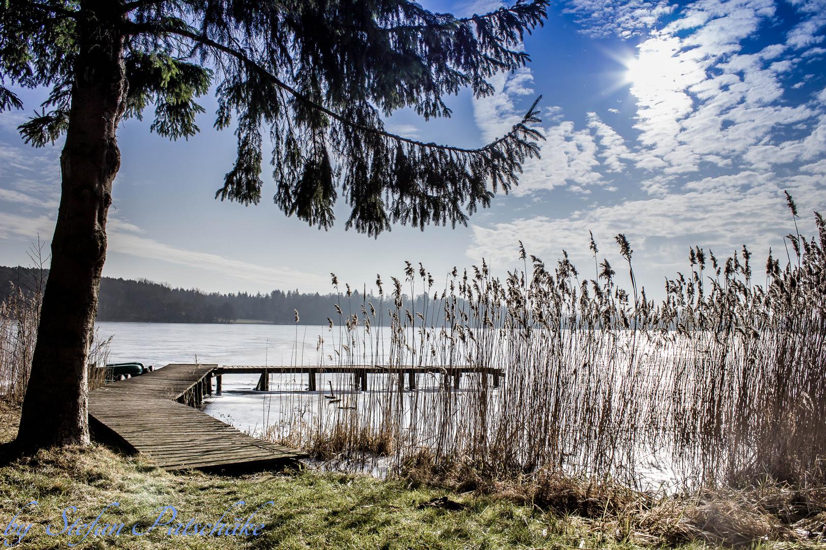
<instances>
[{"instance_id":1,"label":"wide weathered plank walkway bending from the grass beside the tree","mask_svg":"<svg viewBox=\"0 0 826 550\"><path fill-rule=\"evenodd\" d=\"M168 470L282 468L295 449L242 434L190 407L211 394L216 364L168 364L163 369L89 393L89 424L98 437L145 453Z\"/></svg>"}]
</instances>

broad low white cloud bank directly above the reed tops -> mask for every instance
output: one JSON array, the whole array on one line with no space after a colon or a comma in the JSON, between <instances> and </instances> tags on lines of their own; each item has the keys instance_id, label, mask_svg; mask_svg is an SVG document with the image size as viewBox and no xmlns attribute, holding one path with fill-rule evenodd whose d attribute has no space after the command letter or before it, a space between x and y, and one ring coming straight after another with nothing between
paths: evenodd
<instances>
[{"instance_id":1,"label":"broad low white cloud bank directly above the reed tops","mask_svg":"<svg viewBox=\"0 0 826 550\"><path fill-rule=\"evenodd\" d=\"M468 256L476 262L484 257L497 269L510 269L517 263L521 240L530 254L551 266L561 251L567 250L583 276L592 278L594 260L588 250L588 231L593 231L600 247L599 259L609 258L615 269L615 260L621 259L614 237L624 233L634 249L636 276L649 291L662 289L662 274L685 272L692 245L710 248L718 257L747 245L757 256L755 279L762 282L758 259L765 258L769 247L775 255L783 250L781 236L792 229L782 191L789 190L800 206L801 234L815 233L807 211L826 203L822 176L777 178L752 172L705 178L690 186L695 190L685 194L594 206L558 219L537 216L473 225Z\"/></svg>"}]
</instances>

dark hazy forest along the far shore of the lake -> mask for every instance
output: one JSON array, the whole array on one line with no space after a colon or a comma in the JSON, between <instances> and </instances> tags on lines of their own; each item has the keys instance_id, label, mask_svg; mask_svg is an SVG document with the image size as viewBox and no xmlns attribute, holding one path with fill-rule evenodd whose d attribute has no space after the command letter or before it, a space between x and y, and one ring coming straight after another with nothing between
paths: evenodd
<instances>
[{"instance_id":1,"label":"dark hazy forest along the far shore of the lake","mask_svg":"<svg viewBox=\"0 0 826 550\"><path fill-rule=\"evenodd\" d=\"M0 266L0 300L15 287L27 296L36 292L40 270ZM43 278L48 270L43 270ZM353 313L360 313L361 295L354 291L350 302ZM378 308L378 297L368 295L368 302ZM385 297L392 306L392 299ZM421 297L417 302L421 301ZM168 284L149 280L123 280L103 277L97 302L97 321L118 322L236 322L238 320L271 322L278 325L295 322L295 310L302 325L325 325L330 317L340 324L336 303L344 308L347 297L336 294L302 294L297 290L273 290L269 294L204 293L197 289L173 289ZM409 308L409 300L404 300ZM417 304L418 305L418 304ZM360 317L360 315L359 315ZM387 311L384 312L385 320Z\"/></svg>"}]
</instances>

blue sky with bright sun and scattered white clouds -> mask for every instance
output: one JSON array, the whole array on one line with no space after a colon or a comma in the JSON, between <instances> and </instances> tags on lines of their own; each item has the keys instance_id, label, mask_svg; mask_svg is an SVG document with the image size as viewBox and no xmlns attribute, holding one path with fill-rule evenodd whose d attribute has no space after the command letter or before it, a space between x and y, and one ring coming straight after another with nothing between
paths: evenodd
<instances>
[{"instance_id":1,"label":"blue sky with bright sun and scattered white clouds","mask_svg":"<svg viewBox=\"0 0 826 550\"><path fill-rule=\"evenodd\" d=\"M423 5L467 15L501 4ZM150 120L121 125L104 275L325 293L330 272L369 288L377 273L399 276L406 260L437 280L482 257L504 275L521 265L521 240L551 266L567 250L591 278L590 230L615 269L613 237L625 233L637 279L662 298L664 278L688 270L691 245L719 257L748 245L761 281L769 247L785 257L782 237L794 231L783 190L798 203L801 233L814 233L811 213L826 208L826 0L569 0L548 15L525 39L531 63L494 78L496 95L451 98L449 120L425 123L410 111L387 120L408 137L476 146L543 96L541 160L526 163L520 186L467 228L397 226L376 240L343 222L319 231L267 199L271 176L257 206L215 200L235 136L212 129L216 103L204 96L202 133L188 141L150 134ZM0 114L2 265L31 263L26 250L38 235L49 241L59 200L62 143L33 149L15 130L45 91L21 98L25 113ZM349 213L341 205L335 214Z\"/></svg>"}]
</instances>

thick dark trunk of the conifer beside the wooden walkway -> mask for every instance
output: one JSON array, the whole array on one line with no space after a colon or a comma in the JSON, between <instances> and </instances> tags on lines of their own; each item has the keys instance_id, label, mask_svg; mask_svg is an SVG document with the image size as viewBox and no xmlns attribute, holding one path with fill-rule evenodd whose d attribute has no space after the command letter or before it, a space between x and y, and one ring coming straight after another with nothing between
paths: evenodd
<instances>
[{"instance_id":1,"label":"thick dark trunk of the conifer beside the wooden walkway","mask_svg":"<svg viewBox=\"0 0 826 550\"><path fill-rule=\"evenodd\" d=\"M121 166L115 131L126 106L123 0L80 3L78 57L49 280L17 443L88 444L88 349L106 259L112 181Z\"/></svg>"}]
</instances>

